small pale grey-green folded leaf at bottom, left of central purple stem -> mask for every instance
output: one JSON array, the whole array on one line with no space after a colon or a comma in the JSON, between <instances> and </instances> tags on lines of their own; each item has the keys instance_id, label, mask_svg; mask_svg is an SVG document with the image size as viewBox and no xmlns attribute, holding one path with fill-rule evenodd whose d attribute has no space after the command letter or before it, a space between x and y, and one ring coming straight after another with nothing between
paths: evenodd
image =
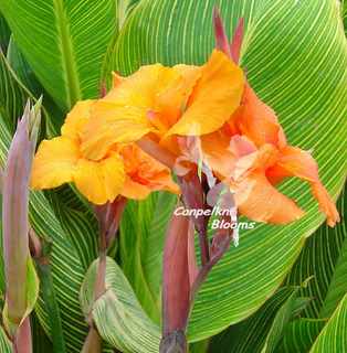
<instances>
[{"instance_id":1,"label":"small pale grey-green folded leaf at bottom, left of central purple stem","mask_svg":"<svg viewBox=\"0 0 347 353\"><path fill-rule=\"evenodd\" d=\"M107 258L106 292L93 304L97 261L81 288L81 304L90 312L103 339L124 353L157 353L160 329L145 313L122 269Z\"/></svg>"}]
</instances>

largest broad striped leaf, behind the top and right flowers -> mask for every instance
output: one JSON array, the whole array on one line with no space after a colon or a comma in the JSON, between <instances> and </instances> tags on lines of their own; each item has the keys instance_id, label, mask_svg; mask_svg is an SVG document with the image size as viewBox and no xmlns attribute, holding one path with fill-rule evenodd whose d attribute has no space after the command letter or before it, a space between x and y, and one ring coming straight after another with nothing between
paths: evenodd
<instances>
[{"instance_id":1,"label":"largest broad striped leaf, behind the top and right flowers","mask_svg":"<svg viewBox=\"0 0 347 353\"><path fill-rule=\"evenodd\" d=\"M141 1L119 34L109 71L129 74L155 62L203 63L213 47L214 4ZM324 183L337 197L347 160L347 140L340 133L347 128L347 44L339 6L330 0L218 4L229 33L241 17L245 19L242 66L249 81L276 110L290 142L313 150ZM230 249L197 297L190 341L211 336L259 309L290 271L305 238L323 222L307 185L291 180L281 190L298 201L306 216L287 226L257 225L241 232L241 245Z\"/></svg>"}]
</instances>

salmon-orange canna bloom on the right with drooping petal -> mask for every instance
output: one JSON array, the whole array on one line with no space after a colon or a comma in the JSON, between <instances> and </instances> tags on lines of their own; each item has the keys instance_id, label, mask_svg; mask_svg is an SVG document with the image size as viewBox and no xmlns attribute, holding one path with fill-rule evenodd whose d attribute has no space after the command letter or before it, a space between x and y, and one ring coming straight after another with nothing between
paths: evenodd
<instances>
[{"instance_id":1,"label":"salmon-orange canna bloom on the right with drooping petal","mask_svg":"<svg viewBox=\"0 0 347 353\"><path fill-rule=\"evenodd\" d=\"M329 226L339 221L312 154L287 145L275 113L245 85L242 104L219 131L202 137L207 163L235 194L240 214L257 222L286 224L304 212L275 185L288 176L311 184Z\"/></svg>"}]
</instances>

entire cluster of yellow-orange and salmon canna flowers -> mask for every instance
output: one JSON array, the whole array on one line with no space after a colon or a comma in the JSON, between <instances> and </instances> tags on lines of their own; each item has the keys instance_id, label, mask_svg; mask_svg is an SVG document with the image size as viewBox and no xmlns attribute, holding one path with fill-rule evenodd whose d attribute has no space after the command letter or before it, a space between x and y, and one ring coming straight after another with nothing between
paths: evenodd
<instances>
[{"instance_id":1,"label":"entire cluster of yellow-orange and salmon canna flowers","mask_svg":"<svg viewBox=\"0 0 347 353\"><path fill-rule=\"evenodd\" d=\"M164 165L140 147L146 139L178 160L191 153L192 137L203 165L234 193L240 214L275 224L299 218L303 211L275 189L297 176L309 182L328 224L338 221L311 153L287 143L275 113L219 50L202 66L154 64L128 77L115 74L105 97L77 103L61 136L41 143L32 188L74 182L94 204L117 195L144 199L154 190L179 193L168 168L174 164Z\"/></svg>"}]
</instances>

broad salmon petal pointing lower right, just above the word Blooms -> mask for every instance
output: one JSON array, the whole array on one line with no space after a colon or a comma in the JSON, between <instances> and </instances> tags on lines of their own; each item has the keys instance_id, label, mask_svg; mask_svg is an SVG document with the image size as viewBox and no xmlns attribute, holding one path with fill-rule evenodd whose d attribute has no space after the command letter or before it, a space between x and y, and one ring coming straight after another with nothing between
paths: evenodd
<instances>
[{"instance_id":1,"label":"broad salmon petal pointing lower right, just above the word Blooms","mask_svg":"<svg viewBox=\"0 0 347 353\"><path fill-rule=\"evenodd\" d=\"M295 202L272 186L262 172L250 174L231 190L235 192L239 212L250 220L287 224L304 215Z\"/></svg>"}]
</instances>

